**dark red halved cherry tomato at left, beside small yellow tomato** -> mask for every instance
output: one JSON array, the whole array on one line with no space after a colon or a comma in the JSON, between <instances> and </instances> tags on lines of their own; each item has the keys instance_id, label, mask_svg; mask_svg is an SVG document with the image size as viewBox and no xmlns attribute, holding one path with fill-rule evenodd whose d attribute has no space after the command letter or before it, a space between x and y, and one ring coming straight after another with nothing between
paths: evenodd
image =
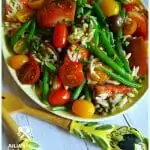
<instances>
[{"instance_id":1,"label":"dark red halved cherry tomato at left, beside small yellow tomato","mask_svg":"<svg viewBox=\"0 0 150 150\"><path fill-rule=\"evenodd\" d=\"M22 84L35 84L40 77L40 66L34 59L30 58L17 71L17 76Z\"/></svg>"}]
</instances>

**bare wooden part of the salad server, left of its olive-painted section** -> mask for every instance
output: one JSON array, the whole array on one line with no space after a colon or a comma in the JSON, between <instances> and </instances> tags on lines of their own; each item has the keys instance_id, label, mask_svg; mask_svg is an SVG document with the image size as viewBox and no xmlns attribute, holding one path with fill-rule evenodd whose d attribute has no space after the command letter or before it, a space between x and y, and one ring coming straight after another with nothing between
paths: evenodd
<instances>
[{"instance_id":1,"label":"bare wooden part of the salad server, left of its olive-painted section","mask_svg":"<svg viewBox=\"0 0 150 150\"><path fill-rule=\"evenodd\" d=\"M58 117L48 111L32 108L23 103L23 101L19 97L13 94L3 93L2 96L2 105L7 109L9 113L23 112L41 120L44 120L48 123L55 124L65 130L69 130L70 128L71 120L69 119Z\"/></svg>"}]
</instances>

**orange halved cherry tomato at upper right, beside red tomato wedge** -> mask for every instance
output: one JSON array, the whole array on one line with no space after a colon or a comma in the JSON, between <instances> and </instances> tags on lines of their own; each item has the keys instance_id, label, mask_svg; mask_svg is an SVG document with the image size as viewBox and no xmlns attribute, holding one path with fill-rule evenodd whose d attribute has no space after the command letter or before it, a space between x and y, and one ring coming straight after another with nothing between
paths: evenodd
<instances>
[{"instance_id":1,"label":"orange halved cherry tomato at upper right, beside red tomato wedge","mask_svg":"<svg viewBox=\"0 0 150 150\"><path fill-rule=\"evenodd\" d=\"M132 35L137 30L137 23L132 18L129 18L123 26L124 35Z\"/></svg>"}]
</instances>

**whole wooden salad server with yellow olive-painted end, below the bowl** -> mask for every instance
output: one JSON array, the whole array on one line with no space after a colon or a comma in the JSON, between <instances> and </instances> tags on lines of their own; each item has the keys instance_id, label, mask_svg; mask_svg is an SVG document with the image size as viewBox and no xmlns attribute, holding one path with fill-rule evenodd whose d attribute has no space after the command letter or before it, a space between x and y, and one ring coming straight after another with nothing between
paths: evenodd
<instances>
[{"instance_id":1,"label":"whole wooden salad server with yellow olive-painted end, below the bowl","mask_svg":"<svg viewBox=\"0 0 150 150\"><path fill-rule=\"evenodd\" d=\"M27 106L19 97L13 94L3 93L2 99L3 107L9 113L27 113L48 123L57 125L77 137L84 138L98 145L103 150L131 149L131 147L148 150L148 139L134 128L119 125L100 125L96 122L72 121ZM16 132L16 129L14 132Z\"/></svg>"}]
</instances>

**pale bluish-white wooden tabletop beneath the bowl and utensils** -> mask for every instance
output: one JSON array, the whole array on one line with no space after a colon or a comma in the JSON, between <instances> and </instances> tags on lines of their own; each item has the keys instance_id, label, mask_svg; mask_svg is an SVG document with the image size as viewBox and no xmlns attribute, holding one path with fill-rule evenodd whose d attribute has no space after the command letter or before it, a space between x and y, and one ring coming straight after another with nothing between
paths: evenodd
<instances>
[{"instance_id":1,"label":"pale bluish-white wooden tabletop beneath the bowl and utensils","mask_svg":"<svg viewBox=\"0 0 150 150\"><path fill-rule=\"evenodd\" d=\"M11 92L22 99L31 101L31 99L21 91L10 76L5 64L3 64L3 86L5 92ZM148 136L148 100L150 94L135 105L131 110L122 116L104 121L102 123L131 125L139 129L145 136ZM35 119L27 114L13 114L14 120L18 125L27 126L32 130L33 138L41 145L42 150L99 150L98 147L78 139L62 129ZM7 150L8 144L12 143L11 136L3 129L2 150Z\"/></svg>"}]
</instances>

